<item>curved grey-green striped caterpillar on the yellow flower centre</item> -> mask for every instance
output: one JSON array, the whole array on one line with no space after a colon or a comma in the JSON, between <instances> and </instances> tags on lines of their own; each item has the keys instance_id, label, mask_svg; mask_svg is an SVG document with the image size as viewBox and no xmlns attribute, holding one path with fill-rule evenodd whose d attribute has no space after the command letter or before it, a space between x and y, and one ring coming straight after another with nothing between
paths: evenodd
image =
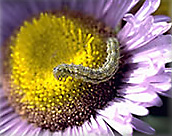
<instances>
[{"instance_id":1,"label":"curved grey-green striped caterpillar on the yellow flower centre","mask_svg":"<svg viewBox=\"0 0 172 136\"><path fill-rule=\"evenodd\" d=\"M83 65L75 64L60 64L53 69L53 74L56 78L72 76L77 79L82 79L85 82L99 84L109 80L118 70L119 65L119 43L115 38L108 38L106 62L102 67L92 69Z\"/></svg>"}]
</instances>

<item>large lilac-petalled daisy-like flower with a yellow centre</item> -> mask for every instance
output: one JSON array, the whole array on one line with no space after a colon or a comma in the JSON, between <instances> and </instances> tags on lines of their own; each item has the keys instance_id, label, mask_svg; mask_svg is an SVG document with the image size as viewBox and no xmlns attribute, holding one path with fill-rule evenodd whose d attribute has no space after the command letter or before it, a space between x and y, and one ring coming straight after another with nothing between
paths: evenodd
<instances>
[{"instance_id":1,"label":"large lilac-petalled daisy-like flower with a yellow centre","mask_svg":"<svg viewBox=\"0 0 172 136\"><path fill-rule=\"evenodd\" d=\"M170 96L171 68L165 64L172 58L171 35L163 34L171 23L166 16L151 15L160 0L146 0L136 14L127 13L137 3L2 1L1 44L7 55L0 90L0 134L132 135L133 129L153 134L154 129L133 114L145 116L147 107L162 104L159 94ZM122 18L126 24L114 34ZM116 50L106 50L109 37L119 43L112 43L120 52L115 60ZM62 71L67 77L55 79L51 69L62 63L74 65ZM117 71L107 79L112 64ZM82 71L86 67L91 69ZM107 72L100 73L99 67ZM79 76L70 76L73 73ZM92 74L100 83L92 83L97 79Z\"/></svg>"}]
</instances>

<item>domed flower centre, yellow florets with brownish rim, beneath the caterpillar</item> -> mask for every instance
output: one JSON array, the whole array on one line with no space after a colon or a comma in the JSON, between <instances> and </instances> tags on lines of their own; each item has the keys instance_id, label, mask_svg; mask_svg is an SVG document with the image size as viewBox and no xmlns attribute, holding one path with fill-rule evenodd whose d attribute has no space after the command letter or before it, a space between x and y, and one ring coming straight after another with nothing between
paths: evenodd
<instances>
[{"instance_id":1,"label":"domed flower centre, yellow florets with brownish rim, beneath the caterpillar","mask_svg":"<svg viewBox=\"0 0 172 136\"><path fill-rule=\"evenodd\" d=\"M58 131L82 125L95 114L91 109L105 105L94 107L102 87L97 89L71 76L61 76L57 80L53 75L53 68L64 63L90 68L103 65L109 32L96 23L91 17L76 13L47 12L25 21L11 37L9 99L23 118ZM101 95L103 98L112 97L102 93L105 94ZM93 107L87 99L93 99Z\"/></svg>"}]
</instances>

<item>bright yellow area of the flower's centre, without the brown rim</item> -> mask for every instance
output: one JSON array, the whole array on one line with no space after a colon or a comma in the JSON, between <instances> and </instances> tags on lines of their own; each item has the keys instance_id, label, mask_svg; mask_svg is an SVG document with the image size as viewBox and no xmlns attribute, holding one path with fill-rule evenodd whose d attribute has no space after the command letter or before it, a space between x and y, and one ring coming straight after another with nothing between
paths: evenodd
<instances>
[{"instance_id":1,"label":"bright yellow area of the flower's centre, without the brown rim","mask_svg":"<svg viewBox=\"0 0 172 136\"><path fill-rule=\"evenodd\" d=\"M103 38L81 20L41 13L12 37L11 95L19 95L18 102L30 109L67 106L84 93L84 82L70 76L56 80L53 68L62 63L98 68L104 51Z\"/></svg>"}]
</instances>

